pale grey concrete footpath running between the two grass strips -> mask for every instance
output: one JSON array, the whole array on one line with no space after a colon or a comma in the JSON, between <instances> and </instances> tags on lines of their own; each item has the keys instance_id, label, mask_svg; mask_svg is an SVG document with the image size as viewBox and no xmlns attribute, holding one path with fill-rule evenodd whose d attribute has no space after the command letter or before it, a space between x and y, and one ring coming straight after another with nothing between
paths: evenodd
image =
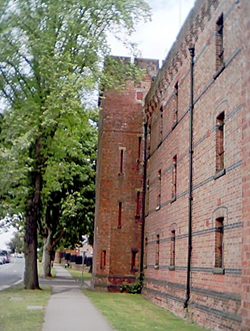
<instances>
[{"instance_id":1,"label":"pale grey concrete footpath running between the two grass strips","mask_svg":"<svg viewBox=\"0 0 250 331\"><path fill-rule=\"evenodd\" d=\"M43 331L114 331L84 295L81 282L75 281L67 269L59 265L54 267L56 277L53 280L40 280L40 285L52 286Z\"/></svg>"}]
</instances>

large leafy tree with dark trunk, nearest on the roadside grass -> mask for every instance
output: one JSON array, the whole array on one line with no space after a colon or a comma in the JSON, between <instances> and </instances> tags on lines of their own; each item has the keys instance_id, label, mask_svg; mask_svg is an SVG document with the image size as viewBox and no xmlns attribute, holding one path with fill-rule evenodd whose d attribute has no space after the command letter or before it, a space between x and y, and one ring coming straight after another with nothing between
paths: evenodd
<instances>
[{"instance_id":1,"label":"large leafy tree with dark trunk, nearest on the roadside grass","mask_svg":"<svg viewBox=\"0 0 250 331\"><path fill-rule=\"evenodd\" d=\"M102 77L107 33L131 33L149 10L144 0L62 0L59 5L2 0L0 13L0 91L6 105L1 194L24 215L25 288L36 289L37 229L53 199L49 168L61 171L58 160L69 152L64 149L69 142L71 153L80 148L73 133L87 127L83 95Z\"/></svg>"}]
</instances>

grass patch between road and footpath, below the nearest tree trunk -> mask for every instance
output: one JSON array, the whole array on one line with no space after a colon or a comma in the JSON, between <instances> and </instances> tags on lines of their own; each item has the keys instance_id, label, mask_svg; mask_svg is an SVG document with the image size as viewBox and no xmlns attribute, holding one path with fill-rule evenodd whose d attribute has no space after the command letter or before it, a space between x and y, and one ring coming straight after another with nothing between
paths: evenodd
<instances>
[{"instance_id":1,"label":"grass patch between road and footpath, below the nearest tree trunk","mask_svg":"<svg viewBox=\"0 0 250 331\"><path fill-rule=\"evenodd\" d=\"M1 291L0 296L1 331L42 330L50 287L43 287L43 290L25 290L22 285L12 286Z\"/></svg>"}]
</instances>

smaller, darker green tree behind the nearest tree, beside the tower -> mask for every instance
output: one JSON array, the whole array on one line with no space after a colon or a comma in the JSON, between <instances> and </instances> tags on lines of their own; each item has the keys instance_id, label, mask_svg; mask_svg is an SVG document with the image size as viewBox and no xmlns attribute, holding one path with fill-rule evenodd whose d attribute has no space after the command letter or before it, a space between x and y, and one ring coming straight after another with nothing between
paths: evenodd
<instances>
[{"instance_id":1,"label":"smaller, darker green tree behind the nearest tree, beside the tower","mask_svg":"<svg viewBox=\"0 0 250 331\"><path fill-rule=\"evenodd\" d=\"M74 245L79 243L83 234L93 235L97 128L89 126L76 130L76 125L74 128L73 136L78 144L73 143L71 133L65 145L60 134L60 141L55 139L54 143L57 150L61 146L65 153L61 158L56 155L56 162L50 158L44 176L42 196L46 212L39 230L44 241L45 277L51 275L50 262L62 238L64 244Z\"/></svg>"}]
</instances>

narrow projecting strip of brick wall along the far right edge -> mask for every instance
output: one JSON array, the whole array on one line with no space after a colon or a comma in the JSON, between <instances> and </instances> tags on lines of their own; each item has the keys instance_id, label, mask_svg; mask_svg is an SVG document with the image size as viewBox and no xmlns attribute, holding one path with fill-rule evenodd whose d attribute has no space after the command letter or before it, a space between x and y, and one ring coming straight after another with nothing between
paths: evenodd
<instances>
[{"instance_id":1,"label":"narrow projecting strip of brick wall along the far right edge","mask_svg":"<svg viewBox=\"0 0 250 331\"><path fill-rule=\"evenodd\" d=\"M241 1L241 23L243 65L242 65L242 86L243 86L243 118L242 118L242 169L243 169L243 226L242 226L242 331L250 330L250 4L249 1ZM248 15L245 15L248 13ZM246 74L248 73L248 74Z\"/></svg>"}]
</instances>

